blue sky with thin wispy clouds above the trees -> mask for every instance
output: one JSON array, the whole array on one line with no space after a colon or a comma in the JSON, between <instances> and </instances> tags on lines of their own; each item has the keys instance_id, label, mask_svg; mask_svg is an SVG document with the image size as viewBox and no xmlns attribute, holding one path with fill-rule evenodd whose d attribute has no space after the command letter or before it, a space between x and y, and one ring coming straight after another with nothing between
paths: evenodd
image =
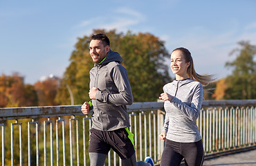
<instances>
[{"instance_id":1,"label":"blue sky with thin wispy clouds above the trees","mask_svg":"<svg viewBox=\"0 0 256 166\"><path fill-rule=\"evenodd\" d=\"M231 73L224 65L235 58L229 53L237 42L256 44L255 6L254 0L0 0L0 74L19 72L27 84L62 77L77 37L115 28L151 33L170 53L188 48L197 73L220 79Z\"/></svg>"}]
</instances>

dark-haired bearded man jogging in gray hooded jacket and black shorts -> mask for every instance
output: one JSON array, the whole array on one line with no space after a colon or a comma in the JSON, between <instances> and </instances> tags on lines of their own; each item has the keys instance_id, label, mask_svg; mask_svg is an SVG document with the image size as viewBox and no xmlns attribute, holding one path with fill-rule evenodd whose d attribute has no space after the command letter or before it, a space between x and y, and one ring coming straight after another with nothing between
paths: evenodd
<instances>
[{"instance_id":1,"label":"dark-haired bearded man jogging in gray hooded jacket and black shorts","mask_svg":"<svg viewBox=\"0 0 256 166\"><path fill-rule=\"evenodd\" d=\"M133 134L128 130L126 105L133 96L122 57L109 47L104 34L92 35L90 55L95 63L90 71L90 102L84 102L82 113L93 109L90 129L89 158L91 166L103 166L109 150L120 156L123 165L136 165Z\"/></svg>"}]
</instances>

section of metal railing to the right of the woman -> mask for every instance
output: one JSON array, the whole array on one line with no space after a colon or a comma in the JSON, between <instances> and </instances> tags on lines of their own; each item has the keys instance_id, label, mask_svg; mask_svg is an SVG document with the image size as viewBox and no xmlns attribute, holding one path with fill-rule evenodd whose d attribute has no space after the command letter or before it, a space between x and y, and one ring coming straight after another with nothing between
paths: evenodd
<instances>
[{"instance_id":1,"label":"section of metal railing to the right of the woman","mask_svg":"<svg viewBox=\"0 0 256 166\"><path fill-rule=\"evenodd\" d=\"M256 100L205 101L199 131L206 156L256 145Z\"/></svg>"}]
</instances>

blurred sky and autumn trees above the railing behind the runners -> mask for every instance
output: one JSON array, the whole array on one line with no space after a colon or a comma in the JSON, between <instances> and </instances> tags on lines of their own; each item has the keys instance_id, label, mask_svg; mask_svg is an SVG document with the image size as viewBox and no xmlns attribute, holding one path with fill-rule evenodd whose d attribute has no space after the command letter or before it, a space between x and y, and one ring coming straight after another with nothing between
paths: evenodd
<instances>
[{"instance_id":1,"label":"blurred sky and autumn trees above the railing behind the runners","mask_svg":"<svg viewBox=\"0 0 256 166\"><path fill-rule=\"evenodd\" d=\"M256 98L256 1L0 1L0 107L89 100L89 37L106 33L134 102L174 80L170 53L190 50L213 74L205 100Z\"/></svg>"}]
</instances>

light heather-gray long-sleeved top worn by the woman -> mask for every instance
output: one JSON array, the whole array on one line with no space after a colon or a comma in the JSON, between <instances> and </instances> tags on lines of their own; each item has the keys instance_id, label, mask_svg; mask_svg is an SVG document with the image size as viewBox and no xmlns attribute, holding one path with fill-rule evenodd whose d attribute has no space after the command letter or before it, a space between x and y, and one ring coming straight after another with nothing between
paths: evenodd
<instances>
[{"instance_id":1,"label":"light heather-gray long-sleeved top worn by the woman","mask_svg":"<svg viewBox=\"0 0 256 166\"><path fill-rule=\"evenodd\" d=\"M173 96L165 101L165 123L168 140L175 142L197 142L201 140L196 119L199 118L203 102L203 86L191 80L174 80L163 86L163 91Z\"/></svg>"}]
</instances>

